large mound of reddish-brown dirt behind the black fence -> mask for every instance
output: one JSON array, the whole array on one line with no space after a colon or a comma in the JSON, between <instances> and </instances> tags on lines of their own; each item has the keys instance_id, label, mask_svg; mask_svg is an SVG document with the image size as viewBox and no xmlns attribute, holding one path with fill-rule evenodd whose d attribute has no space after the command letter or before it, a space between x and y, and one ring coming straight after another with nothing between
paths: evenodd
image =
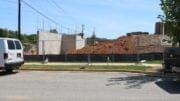
<instances>
[{"instance_id":1,"label":"large mound of reddish-brown dirt behind the black fence","mask_svg":"<svg viewBox=\"0 0 180 101\"><path fill-rule=\"evenodd\" d=\"M135 54L163 52L162 35L131 34L116 40L100 42L79 50L70 50L66 54Z\"/></svg>"}]
</instances>

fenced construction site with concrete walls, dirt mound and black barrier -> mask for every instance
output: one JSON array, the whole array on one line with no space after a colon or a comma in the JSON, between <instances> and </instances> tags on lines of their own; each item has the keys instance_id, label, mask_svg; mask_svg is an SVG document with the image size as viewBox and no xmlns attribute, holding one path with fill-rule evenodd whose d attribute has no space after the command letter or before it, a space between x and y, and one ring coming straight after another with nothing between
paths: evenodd
<instances>
[{"instance_id":1,"label":"fenced construction site with concrete walls, dirt mound and black barrier","mask_svg":"<svg viewBox=\"0 0 180 101\"><path fill-rule=\"evenodd\" d=\"M114 40L102 42L93 40L93 44L88 45L87 39L82 39L78 35L40 32L38 44L28 50L30 53L25 52L25 59L42 61L46 56L49 61L57 62L160 60L163 57L164 49L172 46L169 41L164 40L170 39L163 34L132 32ZM33 54L30 50L34 50Z\"/></svg>"}]
</instances>

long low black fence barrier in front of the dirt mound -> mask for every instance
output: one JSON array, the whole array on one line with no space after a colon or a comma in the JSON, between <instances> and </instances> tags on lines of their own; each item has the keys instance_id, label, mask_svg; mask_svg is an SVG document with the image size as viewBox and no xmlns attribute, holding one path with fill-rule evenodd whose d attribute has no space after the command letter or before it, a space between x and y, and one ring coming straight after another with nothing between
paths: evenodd
<instances>
[{"instance_id":1,"label":"long low black fence barrier in front of the dirt mound","mask_svg":"<svg viewBox=\"0 0 180 101\"><path fill-rule=\"evenodd\" d=\"M162 60L162 53L147 54L65 54L65 55L25 55L26 62L137 62L138 60Z\"/></svg>"}]
</instances>

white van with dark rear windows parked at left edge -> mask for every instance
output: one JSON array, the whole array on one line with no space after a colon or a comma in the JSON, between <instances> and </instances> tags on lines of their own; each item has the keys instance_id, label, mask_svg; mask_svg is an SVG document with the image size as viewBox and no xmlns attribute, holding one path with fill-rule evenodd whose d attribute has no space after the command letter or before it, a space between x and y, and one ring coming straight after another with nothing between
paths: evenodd
<instances>
[{"instance_id":1,"label":"white van with dark rear windows parked at left edge","mask_svg":"<svg viewBox=\"0 0 180 101\"><path fill-rule=\"evenodd\" d=\"M18 39L0 38L0 69L12 72L24 64L23 47Z\"/></svg>"}]
</instances>

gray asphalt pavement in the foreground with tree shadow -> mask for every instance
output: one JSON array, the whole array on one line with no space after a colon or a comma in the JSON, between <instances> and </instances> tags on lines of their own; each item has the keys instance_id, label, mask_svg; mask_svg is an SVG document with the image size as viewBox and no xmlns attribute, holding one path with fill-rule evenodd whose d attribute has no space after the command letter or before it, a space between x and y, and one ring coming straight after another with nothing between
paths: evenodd
<instances>
[{"instance_id":1,"label":"gray asphalt pavement in the foreground with tree shadow","mask_svg":"<svg viewBox=\"0 0 180 101\"><path fill-rule=\"evenodd\" d=\"M0 101L179 101L171 77L121 72L0 72Z\"/></svg>"}]
</instances>

